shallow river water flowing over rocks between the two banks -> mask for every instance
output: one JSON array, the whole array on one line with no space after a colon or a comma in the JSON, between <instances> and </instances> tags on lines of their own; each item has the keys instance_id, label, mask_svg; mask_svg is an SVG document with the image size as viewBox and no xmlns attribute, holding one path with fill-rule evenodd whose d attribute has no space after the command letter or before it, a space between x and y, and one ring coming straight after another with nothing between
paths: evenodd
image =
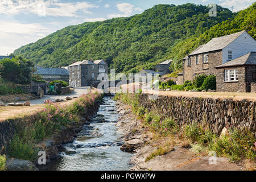
<instances>
[{"instance_id":1,"label":"shallow river water flowing over rocks between the two banks","mask_svg":"<svg viewBox=\"0 0 256 182\"><path fill-rule=\"evenodd\" d=\"M84 125L84 129L72 143L64 145L65 152L53 160L47 169L51 171L125 171L131 168L128 164L132 154L121 151L123 141L117 132L115 101L104 97L98 113Z\"/></svg>"}]
</instances>

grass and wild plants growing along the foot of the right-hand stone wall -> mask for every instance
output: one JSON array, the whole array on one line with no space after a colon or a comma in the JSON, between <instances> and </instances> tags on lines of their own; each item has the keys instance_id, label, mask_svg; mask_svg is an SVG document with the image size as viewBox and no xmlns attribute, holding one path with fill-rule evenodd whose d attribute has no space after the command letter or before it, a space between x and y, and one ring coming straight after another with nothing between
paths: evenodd
<instances>
[{"instance_id":1,"label":"grass and wild plants growing along the foot of the right-hand stone wall","mask_svg":"<svg viewBox=\"0 0 256 182\"><path fill-rule=\"evenodd\" d=\"M230 127L228 135L219 137L209 129L201 127L197 122L179 126L172 118L166 118L165 115L154 111L147 111L138 105L138 95L118 94L115 99L136 107L135 113L141 117L142 127L149 127L154 133L154 140L158 141L159 147L148 156L146 161L170 152L171 147L160 146L160 143L163 143L163 138L171 138L189 141L191 151L197 155L206 155L209 151L214 151L217 156L228 157L231 162L247 159L255 163L256 140L253 133L247 129L238 130L236 127Z\"/></svg>"}]
</instances>

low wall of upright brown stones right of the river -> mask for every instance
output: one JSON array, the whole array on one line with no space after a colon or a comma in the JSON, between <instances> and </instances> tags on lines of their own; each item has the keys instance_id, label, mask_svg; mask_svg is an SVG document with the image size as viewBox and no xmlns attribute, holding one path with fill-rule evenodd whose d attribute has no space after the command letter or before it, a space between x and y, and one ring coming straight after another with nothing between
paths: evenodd
<instances>
[{"instance_id":1,"label":"low wall of upright brown stones right of the river","mask_svg":"<svg viewBox=\"0 0 256 182\"><path fill-rule=\"evenodd\" d=\"M224 127L246 127L256 137L256 102L253 101L172 96L150 100L148 94L141 94L139 105L174 118L179 125L197 121L215 134L220 134Z\"/></svg>"}]
</instances>

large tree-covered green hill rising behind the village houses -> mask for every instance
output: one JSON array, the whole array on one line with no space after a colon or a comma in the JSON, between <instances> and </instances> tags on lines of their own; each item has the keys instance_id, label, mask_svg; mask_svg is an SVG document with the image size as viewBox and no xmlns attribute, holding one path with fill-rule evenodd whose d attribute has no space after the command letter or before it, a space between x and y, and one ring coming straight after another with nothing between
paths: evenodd
<instances>
[{"instance_id":1,"label":"large tree-covered green hill rising behind the village houses","mask_svg":"<svg viewBox=\"0 0 256 182\"><path fill-rule=\"evenodd\" d=\"M198 37L235 15L218 6L217 16L210 17L209 10L207 6L191 3L156 5L129 18L68 26L16 49L14 54L43 67L65 66L73 60L104 59L117 72L135 73L142 68L154 68L174 55L172 49L181 40Z\"/></svg>"}]
</instances>

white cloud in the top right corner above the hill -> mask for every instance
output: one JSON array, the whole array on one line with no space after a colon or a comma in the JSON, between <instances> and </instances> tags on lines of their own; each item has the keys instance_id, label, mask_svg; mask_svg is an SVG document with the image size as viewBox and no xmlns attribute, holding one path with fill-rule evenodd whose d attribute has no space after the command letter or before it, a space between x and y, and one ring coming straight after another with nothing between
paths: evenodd
<instances>
[{"instance_id":1,"label":"white cloud in the top right corner above the hill","mask_svg":"<svg viewBox=\"0 0 256 182\"><path fill-rule=\"evenodd\" d=\"M233 6L233 11L240 11L246 9L255 2L255 0L219 0L220 6L231 8Z\"/></svg>"}]
</instances>

